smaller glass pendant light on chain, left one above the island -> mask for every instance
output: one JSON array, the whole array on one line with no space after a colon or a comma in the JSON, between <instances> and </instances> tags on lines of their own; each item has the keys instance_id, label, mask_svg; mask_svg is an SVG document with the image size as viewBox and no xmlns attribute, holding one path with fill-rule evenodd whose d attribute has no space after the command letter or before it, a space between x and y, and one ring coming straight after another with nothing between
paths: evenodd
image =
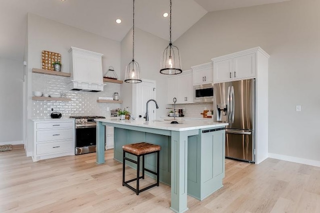
<instances>
[{"instance_id":1,"label":"smaller glass pendant light on chain, left one above the island","mask_svg":"<svg viewBox=\"0 0 320 213\"><path fill-rule=\"evenodd\" d=\"M133 15L132 15L132 61L126 66L124 82L140 83L140 66L134 61L134 0L133 0Z\"/></svg>"}]
</instances>

